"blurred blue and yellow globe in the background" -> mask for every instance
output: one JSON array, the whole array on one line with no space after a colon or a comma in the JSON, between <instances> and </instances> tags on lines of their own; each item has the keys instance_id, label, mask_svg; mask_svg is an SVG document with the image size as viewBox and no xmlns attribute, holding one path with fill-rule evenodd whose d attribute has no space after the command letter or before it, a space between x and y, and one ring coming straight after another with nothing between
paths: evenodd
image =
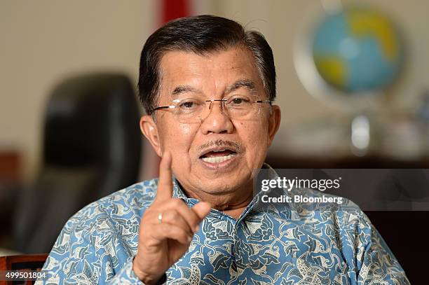
<instances>
[{"instance_id":1,"label":"blurred blue and yellow globe in the background","mask_svg":"<svg viewBox=\"0 0 429 285\"><path fill-rule=\"evenodd\" d=\"M346 95L386 88L404 57L393 22L369 8L327 15L315 29L312 53L322 79Z\"/></svg>"}]
</instances>

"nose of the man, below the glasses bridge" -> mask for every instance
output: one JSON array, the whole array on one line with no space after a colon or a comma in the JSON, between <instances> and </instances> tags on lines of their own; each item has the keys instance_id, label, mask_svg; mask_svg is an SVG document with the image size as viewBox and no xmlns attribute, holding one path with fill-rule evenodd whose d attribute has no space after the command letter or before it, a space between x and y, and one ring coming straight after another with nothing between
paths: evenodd
<instances>
[{"instance_id":1,"label":"nose of the man, below the glasses bridge","mask_svg":"<svg viewBox=\"0 0 429 285\"><path fill-rule=\"evenodd\" d=\"M203 134L230 134L233 132L233 123L226 116L222 108L222 102L213 101L209 104L208 115L201 120L201 131Z\"/></svg>"}]
</instances>

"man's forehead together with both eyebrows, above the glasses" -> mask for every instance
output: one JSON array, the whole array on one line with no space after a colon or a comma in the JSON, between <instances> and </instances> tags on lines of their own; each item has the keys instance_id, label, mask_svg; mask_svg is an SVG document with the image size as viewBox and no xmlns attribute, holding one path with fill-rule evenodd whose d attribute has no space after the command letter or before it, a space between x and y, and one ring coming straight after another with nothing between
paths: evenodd
<instances>
[{"instance_id":1,"label":"man's forehead together with both eyebrows, above the glasses","mask_svg":"<svg viewBox=\"0 0 429 285\"><path fill-rule=\"evenodd\" d=\"M158 104L167 104L187 95L214 99L240 90L245 90L247 95L265 97L254 58L242 48L208 55L168 52L161 60L161 70L159 90L162 97L158 95Z\"/></svg>"}]
</instances>

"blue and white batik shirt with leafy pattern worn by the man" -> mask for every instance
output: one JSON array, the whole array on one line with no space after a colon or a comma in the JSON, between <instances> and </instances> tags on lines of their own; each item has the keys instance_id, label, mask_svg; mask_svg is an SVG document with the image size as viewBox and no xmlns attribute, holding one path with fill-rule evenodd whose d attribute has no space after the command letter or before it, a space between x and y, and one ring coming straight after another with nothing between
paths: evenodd
<instances>
[{"instance_id":1,"label":"blue and white batik shirt with leafy pattern worn by the man","mask_svg":"<svg viewBox=\"0 0 429 285\"><path fill-rule=\"evenodd\" d=\"M142 284L132 271L139 223L158 179L120 190L72 216L36 284ZM173 181L173 196L189 207ZM311 192L311 195L319 195ZM255 207L236 220L212 209L168 284L409 284L393 253L353 202L315 211L290 204Z\"/></svg>"}]
</instances>

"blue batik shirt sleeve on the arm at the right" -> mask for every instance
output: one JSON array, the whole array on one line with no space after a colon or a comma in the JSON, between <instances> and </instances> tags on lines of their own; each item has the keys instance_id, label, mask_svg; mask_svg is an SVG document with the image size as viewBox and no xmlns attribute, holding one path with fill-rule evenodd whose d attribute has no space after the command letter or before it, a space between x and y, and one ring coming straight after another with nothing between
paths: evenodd
<instances>
[{"instance_id":1,"label":"blue batik shirt sleeve on the arm at the right","mask_svg":"<svg viewBox=\"0 0 429 285\"><path fill-rule=\"evenodd\" d=\"M357 251L357 259L360 260L357 284L410 284L400 263L365 214L363 225L359 239L364 246Z\"/></svg>"}]
</instances>

